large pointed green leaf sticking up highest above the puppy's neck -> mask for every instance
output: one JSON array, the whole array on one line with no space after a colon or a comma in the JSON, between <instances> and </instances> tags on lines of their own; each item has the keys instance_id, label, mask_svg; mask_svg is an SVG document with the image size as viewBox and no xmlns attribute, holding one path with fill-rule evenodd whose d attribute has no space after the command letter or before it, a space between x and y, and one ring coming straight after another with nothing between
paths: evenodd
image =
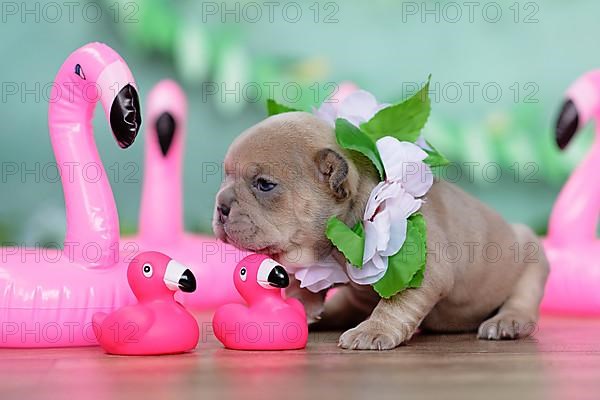
<instances>
[{"instance_id":1,"label":"large pointed green leaf sticking up highest above the puppy's neck","mask_svg":"<svg viewBox=\"0 0 600 400\"><path fill-rule=\"evenodd\" d=\"M380 110L369 121L360 125L371 139L377 141L384 136L393 136L400 141L414 143L425 126L431 111L429 81L414 96L402 103Z\"/></svg>"}]
</instances>

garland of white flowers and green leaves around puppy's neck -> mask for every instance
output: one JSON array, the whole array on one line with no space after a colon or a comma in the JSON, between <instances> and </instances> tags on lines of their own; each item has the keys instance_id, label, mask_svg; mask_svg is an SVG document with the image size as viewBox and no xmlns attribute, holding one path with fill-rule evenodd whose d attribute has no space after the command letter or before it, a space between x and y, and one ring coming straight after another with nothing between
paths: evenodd
<instances>
[{"instance_id":1,"label":"garland of white flowers and green leaves around puppy's neck","mask_svg":"<svg viewBox=\"0 0 600 400\"><path fill-rule=\"evenodd\" d=\"M335 128L342 148L373 163L381 181L369 196L362 221L349 227L332 216L327 222L327 237L348 261L345 273L325 260L295 272L301 287L317 292L349 277L389 298L421 285L427 229L418 210L433 184L431 167L448 163L420 134L431 110L428 91L429 81L414 96L389 105L358 90L338 104L326 102L313 110ZM296 111L273 100L268 109L270 115Z\"/></svg>"}]
</instances>

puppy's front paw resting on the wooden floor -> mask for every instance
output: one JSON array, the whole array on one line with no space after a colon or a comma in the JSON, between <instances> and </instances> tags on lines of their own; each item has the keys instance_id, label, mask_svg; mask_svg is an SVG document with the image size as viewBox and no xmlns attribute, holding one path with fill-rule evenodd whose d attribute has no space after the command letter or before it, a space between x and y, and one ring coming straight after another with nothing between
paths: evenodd
<instances>
[{"instance_id":1,"label":"puppy's front paw resting on the wooden floor","mask_svg":"<svg viewBox=\"0 0 600 400\"><path fill-rule=\"evenodd\" d=\"M338 346L352 350L390 350L409 338L402 331L396 332L389 325L368 319L344 332Z\"/></svg>"}]
</instances>

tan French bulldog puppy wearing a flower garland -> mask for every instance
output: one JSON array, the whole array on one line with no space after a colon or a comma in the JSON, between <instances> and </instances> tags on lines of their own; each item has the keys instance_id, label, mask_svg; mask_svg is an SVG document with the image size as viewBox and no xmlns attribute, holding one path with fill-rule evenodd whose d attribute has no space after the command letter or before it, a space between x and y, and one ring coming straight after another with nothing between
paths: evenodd
<instances>
[{"instance_id":1,"label":"tan French bulldog puppy wearing a flower garland","mask_svg":"<svg viewBox=\"0 0 600 400\"><path fill-rule=\"evenodd\" d=\"M326 122L303 112L269 117L235 140L224 167L213 223L220 239L292 270L328 257L345 265L326 222L361 220L378 177L366 158L340 148ZM531 334L549 271L534 233L441 180L421 212L428 255L419 288L381 299L371 286L351 283L324 302L325 291L296 283L288 294L305 304L309 322L352 328L339 346L357 350L392 349L419 328L492 340Z\"/></svg>"}]
</instances>

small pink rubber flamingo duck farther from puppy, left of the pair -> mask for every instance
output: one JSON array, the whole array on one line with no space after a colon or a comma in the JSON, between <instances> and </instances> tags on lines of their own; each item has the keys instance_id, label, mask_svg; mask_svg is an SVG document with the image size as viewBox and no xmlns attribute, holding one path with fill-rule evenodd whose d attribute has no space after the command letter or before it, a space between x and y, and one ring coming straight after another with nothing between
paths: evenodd
<instances>
[{"instance_id":1,"label":"small pink rubber flamingo duck farther from puppy, left of the pair","mask_svg":"<svg viewBox=\"0 0 600 400\"><path fill-rule=\"evenodd\" d=\"M127 268L127 281L138 299L112 314L94 315L94 334L110 354L158 355L193 350L198 344L198 323L175 301L176 291L196 290L194 274L184 265L158 252L135 256Z\"/></svg>"}]
</instances>

